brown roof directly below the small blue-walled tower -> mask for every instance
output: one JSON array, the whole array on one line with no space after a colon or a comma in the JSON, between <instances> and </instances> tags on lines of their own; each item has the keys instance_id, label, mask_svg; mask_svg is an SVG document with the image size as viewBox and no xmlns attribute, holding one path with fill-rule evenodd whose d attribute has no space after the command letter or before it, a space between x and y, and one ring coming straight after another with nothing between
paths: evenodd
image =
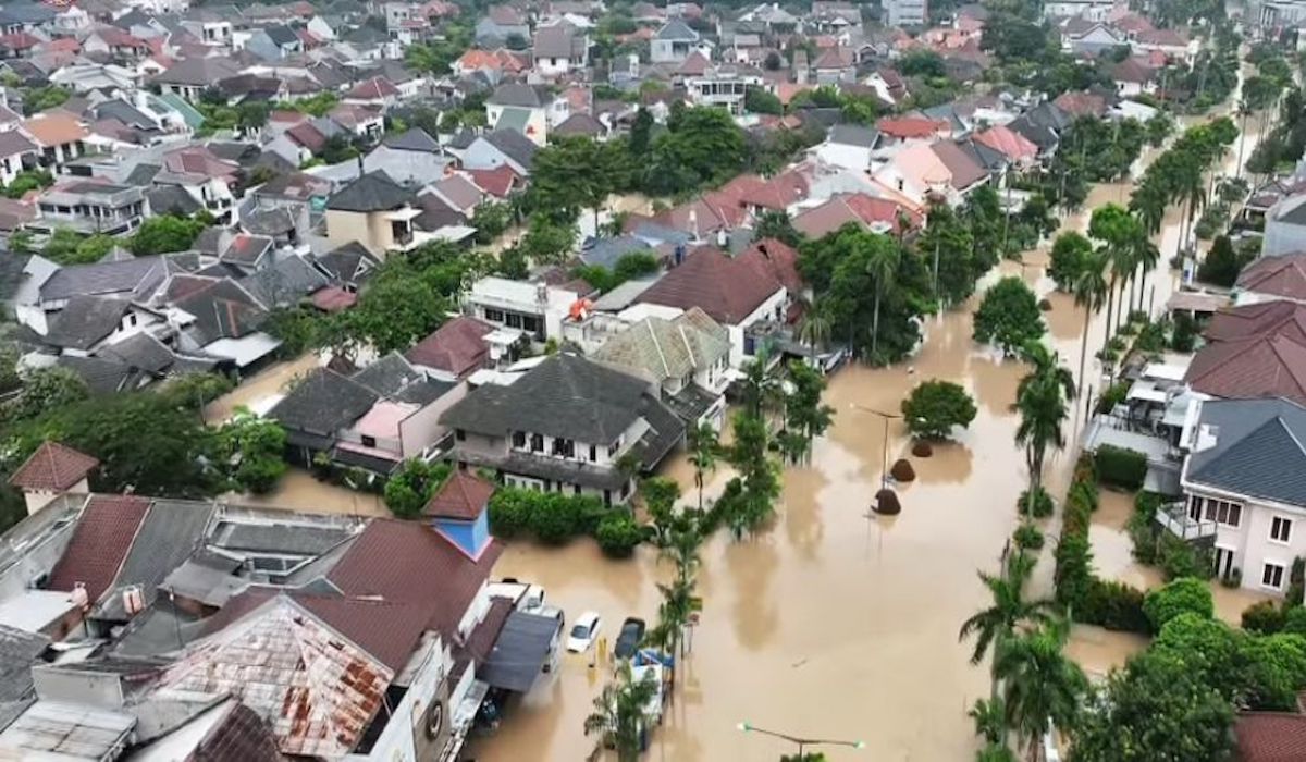
<instances>
[{"instance_id":1,"label":"brown roof directly below the small blue-walled tower","mask_svg":"<svg viewBox=\"0 0 1306 762\"><path fill-rule=\"evenodd\" d=\"M475 559L426 524L375 519L328 579L349 596L424 606L428 626L449 635L503 553L491 540Z\"/></svg>"}]
</instances>

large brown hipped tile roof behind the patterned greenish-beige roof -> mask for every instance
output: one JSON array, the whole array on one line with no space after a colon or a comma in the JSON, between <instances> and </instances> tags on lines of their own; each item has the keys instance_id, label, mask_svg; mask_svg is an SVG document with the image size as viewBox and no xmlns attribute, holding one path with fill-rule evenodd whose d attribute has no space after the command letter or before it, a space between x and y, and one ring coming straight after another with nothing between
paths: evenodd
<instances>
[{"instance_id":1,"label":"large brown hipped tile roof behind the patterned greenish-beige roof","mask_svg":"<svg viewBox=\"0 0 1306 762\"><path fill-rule=\"evenodd\" d=\"M700 307L717 323L738 325L781 288L774 276L752 263L704 246L640 294L639 301L682 310Z\"/></svg>"}]
</instances>

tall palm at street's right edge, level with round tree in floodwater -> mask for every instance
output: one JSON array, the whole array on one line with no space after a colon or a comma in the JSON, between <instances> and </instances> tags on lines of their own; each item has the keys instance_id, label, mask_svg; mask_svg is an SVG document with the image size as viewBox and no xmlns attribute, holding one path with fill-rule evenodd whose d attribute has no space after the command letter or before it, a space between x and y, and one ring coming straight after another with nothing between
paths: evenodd
<instances>
[{"instance_id":1,"label":"tall palm at street's right edge, level with round tree in floodwater","mask_svg":"<svg viewBox=\"0 0 1306 762\"><path fill-rule=\"evenodd\" d=\"M1062 423L1066 405L1075 399L1075 378L1060 365L1060 356L1043 344L1032 341L1021 353L1021 359L1033 366L1016 387L1016 444L1025 448L1029 468L1029 499L1042 489L1043 459L1047 448L1066 446Z\"/></svg>"}]
</instances>

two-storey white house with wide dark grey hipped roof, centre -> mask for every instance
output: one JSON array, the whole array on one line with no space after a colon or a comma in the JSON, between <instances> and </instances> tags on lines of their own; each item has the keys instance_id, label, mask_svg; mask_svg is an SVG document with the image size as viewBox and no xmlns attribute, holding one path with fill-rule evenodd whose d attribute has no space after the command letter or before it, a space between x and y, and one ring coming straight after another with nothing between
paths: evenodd
<instances>
[{"instance_id":1,"label":"two-storey white house with wide dark grey hipped roof, centre","mask_svg":"<svg viewBox=\"0 0 1306 762\"><path fill-rule=\"evenodd\" d=\"M632 460L649 472L684 438L657 386L571 352L508 386L485 384L445 412L460 467L490 468L509 486L602 495L624 503Z\"/></svg>"}]
</instances>

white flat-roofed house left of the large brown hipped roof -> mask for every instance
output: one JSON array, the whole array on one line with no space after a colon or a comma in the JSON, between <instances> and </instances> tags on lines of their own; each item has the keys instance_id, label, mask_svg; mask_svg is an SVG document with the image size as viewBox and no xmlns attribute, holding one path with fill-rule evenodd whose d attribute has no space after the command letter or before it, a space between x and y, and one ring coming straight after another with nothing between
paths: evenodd
<instances>
[{"instance_id":1,"label":"white flat-roofed house left of the large brown hipped roof","mask_svg":"<svg viewBox=\"0 0 1306 762\"><path fill-rule=\"evenodd\" d=\"M478 320L520 332L525 340L543 345L562 340L563 320L581 294L575 289L543 282L483 277L462 297L462 310Z\"/></svg>"}]
</instances>

